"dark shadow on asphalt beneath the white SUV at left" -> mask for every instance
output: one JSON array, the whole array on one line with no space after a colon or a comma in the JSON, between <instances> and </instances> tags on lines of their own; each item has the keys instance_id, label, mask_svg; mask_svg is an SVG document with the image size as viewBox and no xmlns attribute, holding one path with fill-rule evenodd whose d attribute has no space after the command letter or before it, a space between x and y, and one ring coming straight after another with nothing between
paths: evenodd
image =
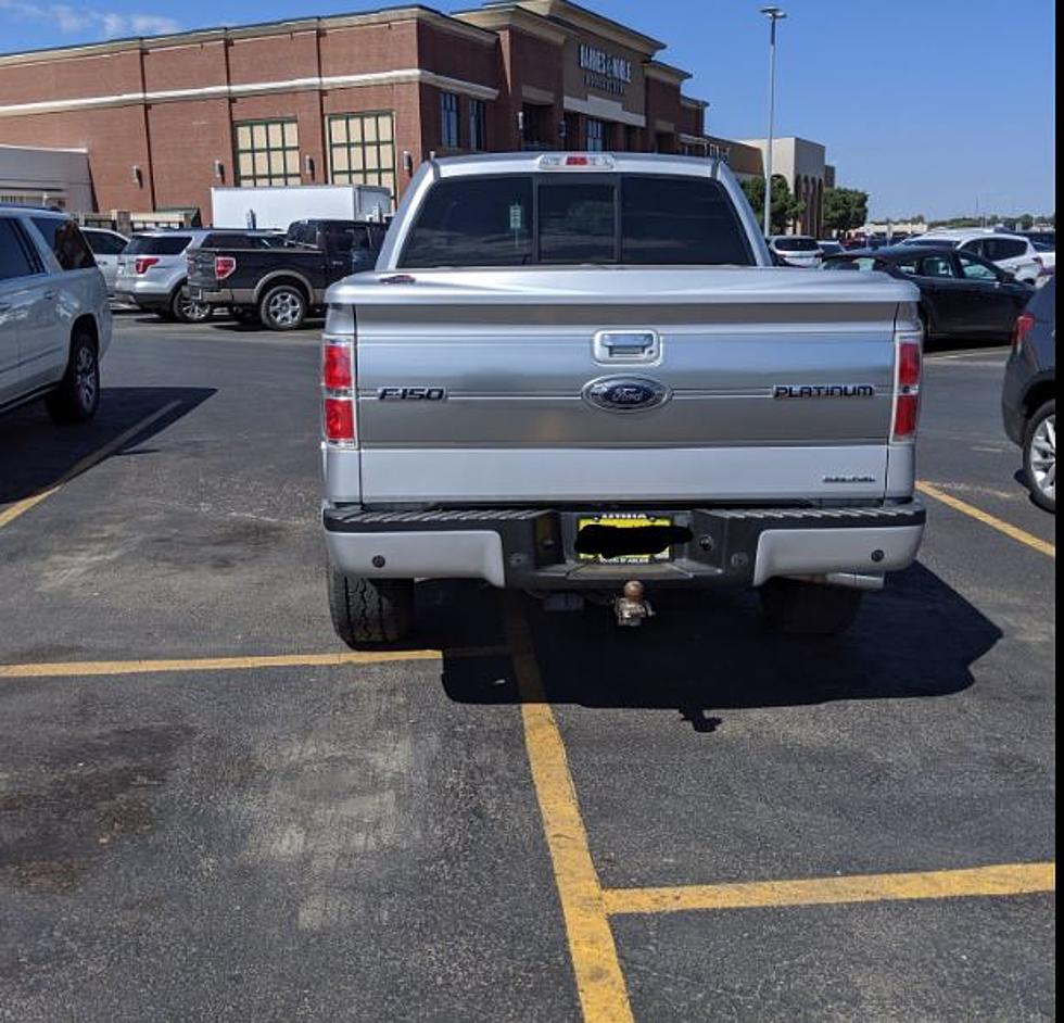
<instances>
[{"instance_id":1,"label":"dark shadow on asphalt beneath the white SUV at left","mask_svg":"<svg viewBox=\"0 0 1064 1023\"><path fill-rule=\"evenodd\" d=\"M94 465L101 452L107 458L127 453L214 393L214 388L104 388L96 417L73 426L52 422L43 402L0 416L0 506L65 482ZM143 429L136 429L141 422Z\"/></svg>"}]
</instances>

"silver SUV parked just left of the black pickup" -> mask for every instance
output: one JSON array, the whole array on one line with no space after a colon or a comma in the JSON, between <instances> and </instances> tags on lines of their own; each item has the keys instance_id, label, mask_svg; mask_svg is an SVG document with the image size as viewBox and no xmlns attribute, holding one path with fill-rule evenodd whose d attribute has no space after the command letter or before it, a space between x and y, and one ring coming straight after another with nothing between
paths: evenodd
<instances>
[{"instance_id":1,"label":"silver SUV parked just left of the black pickup","mask_svg":"<svg viewBox=\"0 0 1064 1023\"><path fill-rule=\"evenodd\" d=\"M262 250L281 244L277 231L161 228L129 239L118 256L115 296L164 319L199 324L208 319L211 306L193 301L188 291L189 252L203 244Z\"/></svg>"}]
</instances>

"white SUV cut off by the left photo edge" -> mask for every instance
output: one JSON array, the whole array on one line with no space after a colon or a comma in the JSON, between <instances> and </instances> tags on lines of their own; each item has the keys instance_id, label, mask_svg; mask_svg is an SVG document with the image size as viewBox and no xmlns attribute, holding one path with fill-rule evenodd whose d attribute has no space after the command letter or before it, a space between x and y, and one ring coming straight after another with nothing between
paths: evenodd
<instances>
[{"instance_id":1,"label":"white SUV cut off by the left photo edge","mask_svg":"<svg viewBox=\"0 0 1064 1023\"><path fill-rule=\"evenodd\" d=\"M0 411L43 397L56 422L92 418L110 344L106 285L77 225L0 206Z\"/></svg>"}]
</instances>

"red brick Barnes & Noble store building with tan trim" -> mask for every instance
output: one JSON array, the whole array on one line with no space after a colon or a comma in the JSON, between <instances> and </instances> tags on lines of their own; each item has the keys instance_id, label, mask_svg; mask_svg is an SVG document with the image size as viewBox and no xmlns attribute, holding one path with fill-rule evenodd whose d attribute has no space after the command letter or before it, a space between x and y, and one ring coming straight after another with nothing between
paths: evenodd
<instances>
[{"instance_id":1,"label":"red brick Barnes & Noble store building with tan trim","mask_svg":"<svg viewBox=\"0 0 1064 1023\"><path fill-rule=\"evenodd\" d=\"M98 210L387 185L430 152L712 155L664 45L568 0L306 17L0 56L0 144L87 151ZM737 143L730 143L737 144Z\"/></svg>"}]
</instances>

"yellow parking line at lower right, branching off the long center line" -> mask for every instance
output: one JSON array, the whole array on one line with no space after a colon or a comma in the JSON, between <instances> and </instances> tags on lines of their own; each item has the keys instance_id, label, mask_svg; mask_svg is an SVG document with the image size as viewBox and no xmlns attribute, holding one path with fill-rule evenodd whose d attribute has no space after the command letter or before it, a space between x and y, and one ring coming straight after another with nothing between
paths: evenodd
<instances>
[{"instance_id":1,"label":"yellow parking line at lower right, branching off the long center line","mask_svg":"<svg viewBox=\"0 0 1064 1023\"><path fill-rule=\"evenodd\" d=\"M611 888L604 892L603 897L606 911L617 914L1029 895L1055 891L1055 863L1002 863L962 870L856 874L849 877L811 877L803 881L755 881L674 888Z\"/></svg>"}]
</instances>

